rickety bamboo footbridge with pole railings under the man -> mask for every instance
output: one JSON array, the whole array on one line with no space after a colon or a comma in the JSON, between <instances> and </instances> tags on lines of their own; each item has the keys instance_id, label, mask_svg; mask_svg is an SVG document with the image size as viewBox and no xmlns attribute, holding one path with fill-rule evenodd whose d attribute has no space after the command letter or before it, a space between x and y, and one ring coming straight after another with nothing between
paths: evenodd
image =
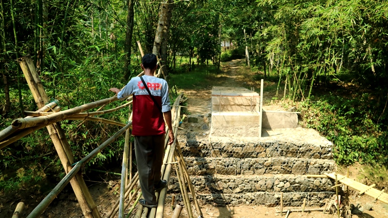
<instances>
[{"instance_id":1,"label":"rickety bamboo footbridge with pole railings under the man","mask_svg":"<svg viewBox=\"0 0 388 218\"><path fill-rule=\"evenodd\" d=\"M67 109L60 111L60 107L57 102L50 102L48 95L42 85L42 82L37 74L35 67L33 65L31 57L23 57L17 60L20 64L20 67L23 71L25 78L27 79L28 85L31 89L33 98L38 106L37 111L27 111L25 118L19 118L12 122L10 126L0 131L0 149L4 148L7 145L19 140L20 138L44 127L47 127L49 131L49 135L51 140L55 146L55 149L58 153L58 156L61 160L61 163L65 170L65 177L58 183L56 187L54 187L49 194L40 202L28 215L27 218L38 218L41 214L47 209L49 204L58 196L58 194L64 189L64 187L70 183L71 187L74 190L76 198L81 207L83 216L85 218L101 218L101 215L97 209L97 205L94 202L88 187L85 184L85 181L81 174L81 168L90 160L92 160L98 153L100 153L104 148L106 148L110 143L116 140L118 137L125 133L125 146L124 146L124 154L123 154L123 164L122 164L122 173L121 173L121 188L120 188L120 199L114 204L112 211L109 213L107 218L113 218L116 216L118 212L119 218L124 218L124 211L129 207L131 202L137 196L137 200L134 204L131 205L131 209L129 210L129 214L134 210L137 202L141 197L141 192L139 192L140 186L138 185L138 173L135 175L131 175L128 173L129 169L131 169L131 151L132 144L129 143L130 139L130 128L132 126L132 114L129 114L129 119L126 124L119 123L112 120L96 118L95 115L102 115L110 112L117 111L119 109L123 109L128 107L132 103L132 96L127 99L127 103L113 109L102 110L107 104L112 103L113 101L117 101L117 97L113 96L110 98L102 99L96 102L87 103L81 105L79 107L75 107L72 109ZM161 67L162 68L162 67ZM138 76L141 76L139 74ZM160 76L161 70L155 76ZM190 206L190 199L187 192L187 187L189 188L192 196L194 205L196 208L196 213L199 217L202 217L201 210L199 208L199 204L196 201L194 188L191 183L189 174L187 172L187 167L185 162L183 161L183 154L180 150L180 146L177 140L178 134L178 125L179 125L179 116L180 116L180 102L184 101L182 99L183 93L179 94L174 105L172 107L172 121L173 121L173 132L175 136L175 141L168 145L168 137L165 140L165 155L163 159L162 165L162 179L169 181L170 173L173 169L176 169L176 173L178 175L179 184L181 186L183 201L186 205L187 214L190 217L193 217L193 211ZM94 112L85 112L89 109L94 109L99 107ZM75 162L73 153L70 149L69 143L65 138L64 130L62 129L59 122L64 120L89 120L89 121L97 121L104 122L107 124L122 126L122 128L115 133L108 140L104 141L101 145L99 145L96 149L90 152L87 156L83 157L80 161ZM168 129L167 129L168 130ZM168 132L168 131L166 131ZM130 164L130 166L128 166ZM173 168L174 167L174 168ZM135 190L134 194L131 194L131 191ZM142 205L138 205L137 213L135 217L148 217L148 218L162 218L165 199L166 199L167 187L162 188L161 190L156 192L156 196L158 199L158 207L149 209ZM19 217L21 210L23 209L24 203L20 202L16 206L16 211L14 213L13 218L16 216ZM181 210L181 207L177 207ZM178 209L178 210L179 210ZM149 210L149 211L148 211ZM180 213L179 210L179 213ZM129 214L127 217L129 217ZM147 216L148 215L148 216Z\"/></svg>"}]
</instances>

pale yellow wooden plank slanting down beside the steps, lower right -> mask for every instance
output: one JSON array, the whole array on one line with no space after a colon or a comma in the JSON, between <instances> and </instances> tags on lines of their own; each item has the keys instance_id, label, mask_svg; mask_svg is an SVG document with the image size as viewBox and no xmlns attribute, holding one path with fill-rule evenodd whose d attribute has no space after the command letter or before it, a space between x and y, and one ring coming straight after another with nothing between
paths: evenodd
<instances>
[{"instance_id":1,"label":"pale yellow wooden plank slanting down beside the steps, lower right","mask_svg":"<svg viewBox=\"0 0 388 218\"><path fill-rule=\"evenodd\" d=\"M334 173L324 173L327 177L335 179L336 176ZM364 191L365 189L369 188L369 186L356 182L353 179L346 178L345 176L338 175L341 180L339 181L340 183L349 186L353 189L356 189L357 191ZM376 188L370 188L367 191L365 191L365 194L368 196L371 196L374 199L379 200L380 202L383 203L388 203L388 194L387 193L382 193L380 190Z\"/></svg>"}]
</instances>

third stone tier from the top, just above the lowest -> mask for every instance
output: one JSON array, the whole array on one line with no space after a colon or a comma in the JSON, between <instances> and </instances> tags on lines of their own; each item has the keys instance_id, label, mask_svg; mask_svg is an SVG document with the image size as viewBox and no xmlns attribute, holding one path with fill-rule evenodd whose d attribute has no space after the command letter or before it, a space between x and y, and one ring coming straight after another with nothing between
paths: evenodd
<instances>
[{"instance_id":1,"label":"third stone tier from the top, just above the lowest","mask_svg":"<svg viewBox=\"0 0 388 218\"><path fill-rule=\"evenodd\" d=\"M321 192L333 191L333 182L327 178L307 178L304 175L204 175L190 176L195 192L236 194L247 192ZM180 192L178 178L172 175L168 189Z\"/></svg>"}]
</instances>

